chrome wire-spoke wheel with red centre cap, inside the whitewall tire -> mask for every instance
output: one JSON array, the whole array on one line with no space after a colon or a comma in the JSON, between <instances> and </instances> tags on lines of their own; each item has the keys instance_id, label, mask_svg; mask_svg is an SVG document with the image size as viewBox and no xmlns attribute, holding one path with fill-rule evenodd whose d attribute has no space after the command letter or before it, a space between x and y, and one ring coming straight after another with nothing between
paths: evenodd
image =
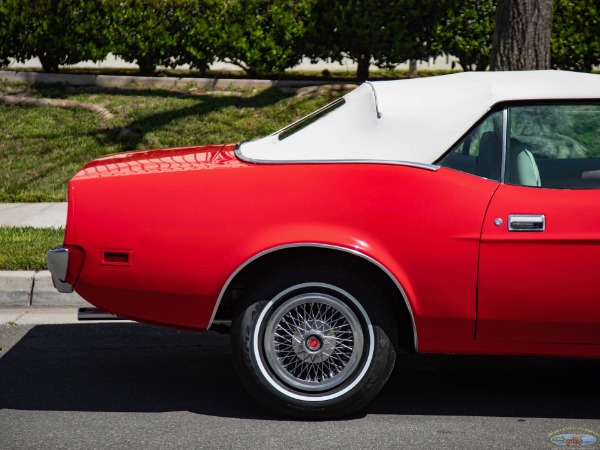
<instances>
[{"instance_id":1,"label":"chrome wire-spoke wheel with red centre cap, inside the whitewall tire","mask_svg":"<svg viewBox=\"0 0 600 450\"><path fill-rule=\"evenodd\" d=\"M281 303L263 339L266 360L284 384L309 392L332 389L360 365L364 334L336 296L303 293Z\"/></svg>"}]
</instances>

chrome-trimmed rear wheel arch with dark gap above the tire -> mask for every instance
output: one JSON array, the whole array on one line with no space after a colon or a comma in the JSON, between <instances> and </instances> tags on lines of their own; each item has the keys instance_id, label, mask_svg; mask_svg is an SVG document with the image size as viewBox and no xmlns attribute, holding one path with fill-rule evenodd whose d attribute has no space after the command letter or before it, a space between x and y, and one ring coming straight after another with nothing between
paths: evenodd
<instances>
[{"instance_id":1,"label":"chrome-trimmed rear wheel arch with dark gap above the tire","mask_svg":"<svg viewBox=\"0 0 600 450\"><path fill-rule=\"evenodd\" d=\"M331 263L343 266L366 278L385 294L385 301L394 312L398 331L397 346L406 351L418 349L417 328L413 311L400 281L379 261L353 249L329 244L295 243L260 252L241 264L221 289L209 328L233 319L238 301L252 280L284 266L307 262ZM404 326L403 326L404 325Z\"/></svg>"}]
</instances>

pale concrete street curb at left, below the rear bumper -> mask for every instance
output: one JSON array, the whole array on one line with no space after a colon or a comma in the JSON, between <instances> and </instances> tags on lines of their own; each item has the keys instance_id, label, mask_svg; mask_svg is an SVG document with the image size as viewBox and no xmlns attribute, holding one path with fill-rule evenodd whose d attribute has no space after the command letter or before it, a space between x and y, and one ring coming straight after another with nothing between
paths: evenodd
<instances>
[{"instance_id":1,"label":"pale concrete street curb at left, below the rear bumper","mask_svg":"<svg viewBox=\"0 0 600 450\"><path fill-rule=\"evenodd\" d=\"M0 308L90 307L79 294L59 293L47 270L0 271Z\"/></svg>"}]
</instances>

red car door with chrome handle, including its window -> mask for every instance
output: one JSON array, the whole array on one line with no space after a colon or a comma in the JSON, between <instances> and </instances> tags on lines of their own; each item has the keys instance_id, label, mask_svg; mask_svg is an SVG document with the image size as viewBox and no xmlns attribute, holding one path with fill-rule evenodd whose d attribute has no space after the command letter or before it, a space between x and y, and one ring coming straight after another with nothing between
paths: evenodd
<instances>
[{"instance_id":1,"label":"red car door with chrome handle, including its window","mask_svg":"<svg viewBox=\"0 0 600 450\"><path fill-rule=\"evenodd\" d=\"M505 119L476 339L600 344L600 107L521 105Z\"/></svg>"}]
</instances>

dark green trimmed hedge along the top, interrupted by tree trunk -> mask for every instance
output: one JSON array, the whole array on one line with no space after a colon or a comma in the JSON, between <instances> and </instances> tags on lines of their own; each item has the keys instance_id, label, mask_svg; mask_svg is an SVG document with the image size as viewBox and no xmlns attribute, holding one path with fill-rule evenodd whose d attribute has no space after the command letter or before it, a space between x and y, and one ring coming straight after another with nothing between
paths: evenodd
<instances>
[{"instance_id":1,"label":"dark green trimmed hedge along the top, interrupted by tree trunk","mask_svg":"<svg viewBox=\"0 0 600 450\"><path fill-rule=\"evenodd\" d=\"M597 0L556 0L552 62L591 70L600 62ZM46 72L110 52L152 74L157 66L215 60L250 76L282 72L302 57L349 57L359 78L441 54L482 70L494 0L2 0L0 67L39 57Z\"/></svg>"}]
</instances>

